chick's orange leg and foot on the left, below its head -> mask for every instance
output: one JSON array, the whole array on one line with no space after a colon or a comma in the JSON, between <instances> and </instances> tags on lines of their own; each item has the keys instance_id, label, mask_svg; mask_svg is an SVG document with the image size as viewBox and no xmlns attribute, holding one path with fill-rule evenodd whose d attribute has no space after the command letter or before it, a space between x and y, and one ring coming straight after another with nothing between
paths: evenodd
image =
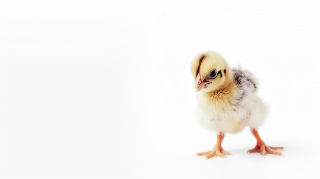
<instances>
[{"instance_id":1,"label":"chick's orange leg and foot on the left, below its head","mask_svg":"<svg viewBox=\"0 0 320 179\"><path fill-rule=\"evenodd\" d=\"M225 155L232 155L231 152L223 150L221 143L224 138L224 134L220 132L217 136L217 142L212 150L205 151L205 152L198 152L197 156L205 156L205 159L210 159L213 157L224 157Z\"/></svg>"}]
</instances>

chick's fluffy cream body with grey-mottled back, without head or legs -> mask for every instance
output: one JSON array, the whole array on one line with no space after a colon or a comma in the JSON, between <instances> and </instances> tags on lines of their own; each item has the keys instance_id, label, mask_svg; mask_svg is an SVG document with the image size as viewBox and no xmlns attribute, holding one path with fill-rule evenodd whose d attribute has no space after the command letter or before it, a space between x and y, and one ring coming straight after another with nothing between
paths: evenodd
<instances>
[{"instance_id":1,"label":"chick's fluffy cream body with grey-mottled back, without head or legs","mask_svg":"<svg viewBox=\"0 0 320 179\"><path fill-rule=\"evenodd\" d=\"M257 94L257 79L241 68L231 72L232 81L223 89L197 93L197 119L209 130L237 133L265 119L266 105Z\"/></svg>"}]
</instances>

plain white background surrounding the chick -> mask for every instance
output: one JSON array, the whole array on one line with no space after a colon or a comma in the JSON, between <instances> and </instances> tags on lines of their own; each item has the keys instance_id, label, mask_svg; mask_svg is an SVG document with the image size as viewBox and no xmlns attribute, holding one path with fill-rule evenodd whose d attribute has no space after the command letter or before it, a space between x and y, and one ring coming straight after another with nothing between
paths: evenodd
<instances>
[{"instance_id":1,"label":"plain white background surrounding the chick","mask_svg":"<svg viewBox=\"0 0 320 179\"><path fill-rule=\"evenodd\" d=\"M318 1L1 1L1 177L318 178ZM284 157L195 157L191 60L215 50L260 82L260 135Z\"/></svg>"}]
</instances>

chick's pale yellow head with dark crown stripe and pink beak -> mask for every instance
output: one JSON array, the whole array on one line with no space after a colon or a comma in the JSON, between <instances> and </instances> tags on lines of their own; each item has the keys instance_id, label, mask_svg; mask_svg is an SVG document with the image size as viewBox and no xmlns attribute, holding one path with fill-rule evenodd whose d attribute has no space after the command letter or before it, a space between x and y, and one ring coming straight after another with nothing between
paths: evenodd
<instances>
[{"instance_id":1,"label":"chick's pale yellow head with dark crown stripe and pink beak","mask_svg":"<svg viewBox=\"0 0 320 179\"><path fill-rule=\"evenodd\" d=\"M215 52L197 56L191 63L196 92L211 92L231 82L231 70L223 57Z\"/></svg>"}]
</instances>

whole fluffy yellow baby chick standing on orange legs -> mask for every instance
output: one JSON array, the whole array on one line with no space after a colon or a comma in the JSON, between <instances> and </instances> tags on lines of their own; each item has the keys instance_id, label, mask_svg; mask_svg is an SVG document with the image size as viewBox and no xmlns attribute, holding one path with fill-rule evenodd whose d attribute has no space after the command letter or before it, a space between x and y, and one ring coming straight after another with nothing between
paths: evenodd
<instances>
[{"instance_id":1,"label":"whole fluffy yellow baby chick standing on orange legs","mask_svg":"<svg viewBox=\"0 0 320 179\"><path fill-rule=\"evenodd\" d=\"M206 159L232 155L221 146L224 134L237 133L249 126L257 145L247 152L282 156L276 150L284 147L267 146L258 134L257 127L264 121L267 110L257 94L258 83L252 73L241 68L230 69L223 57L214 52L196 57L191 72L197 92L198 121L218 133L214 148L196 155Z\"/></svg>"}]
</instances>

